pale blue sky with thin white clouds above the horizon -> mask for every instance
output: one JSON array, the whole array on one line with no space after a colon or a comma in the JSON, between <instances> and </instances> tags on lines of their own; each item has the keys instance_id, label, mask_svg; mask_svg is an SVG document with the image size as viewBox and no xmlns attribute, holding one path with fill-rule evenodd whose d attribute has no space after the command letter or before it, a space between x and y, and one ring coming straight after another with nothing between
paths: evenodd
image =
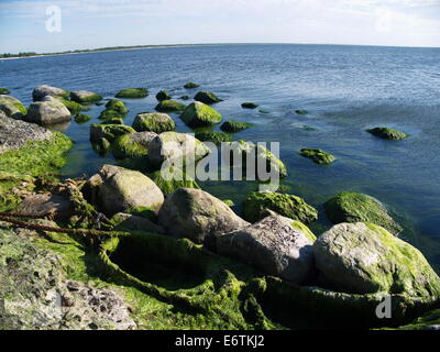
<instances>
[{"instance_id":1,"label":"pale blue sky with thin white clouds above the horizon","mask_svg":"<svg viewBox=\"0 0 440 352\"><path fill-rule=\"evenodd\" d=\"M0 53L195 43L440 46L440 0L0 0Z\"/></svg>"}]
</instances>

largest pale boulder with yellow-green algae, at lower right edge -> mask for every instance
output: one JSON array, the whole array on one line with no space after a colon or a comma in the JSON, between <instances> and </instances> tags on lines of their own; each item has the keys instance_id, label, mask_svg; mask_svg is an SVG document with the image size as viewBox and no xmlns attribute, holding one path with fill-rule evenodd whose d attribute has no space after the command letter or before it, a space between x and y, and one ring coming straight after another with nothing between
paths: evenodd
<instances>
[{"instance_id":1,"label":"largest pale boulder with yellow-green algae, at lower right edge","mask_svg":"<svg viewBox=\"0 0 440 352\"><path fill-rule=\"evenodd\" d=\"M424 255L378 226L337 224L315 242L314 253L320 273L341 292L440 297L440 278Z\"/></svg>"}]
</instances>

